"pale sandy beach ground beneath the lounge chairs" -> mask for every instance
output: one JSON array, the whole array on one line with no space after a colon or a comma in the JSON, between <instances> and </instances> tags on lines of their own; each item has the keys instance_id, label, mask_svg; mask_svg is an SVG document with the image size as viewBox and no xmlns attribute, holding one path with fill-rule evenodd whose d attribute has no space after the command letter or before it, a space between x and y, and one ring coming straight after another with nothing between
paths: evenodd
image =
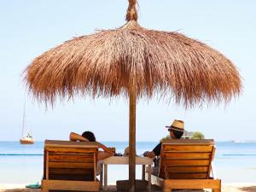
<instances>
[{"instance_id":1,"label":"pale sandy beach ground beneath the lounge chairs","mask_svg":"<svg viewBox=\"0 0 256 192\"><path fill-rule=\"evenodd\" d=\"M108 191L116 191L114 185L108 186ZM39 192L41 189L26 189L25 184L0 184L0 192ZM103 190L101 190L103 191ZM152 191L160 192L156 186L152 187ZM179 190L179 192L203 192L211 191L207 190ZM222 185L222 192L254 192L256 191L256 183L224 183ZM119 191L117 191L119 192Z\"/></svg>"}]
</instances>

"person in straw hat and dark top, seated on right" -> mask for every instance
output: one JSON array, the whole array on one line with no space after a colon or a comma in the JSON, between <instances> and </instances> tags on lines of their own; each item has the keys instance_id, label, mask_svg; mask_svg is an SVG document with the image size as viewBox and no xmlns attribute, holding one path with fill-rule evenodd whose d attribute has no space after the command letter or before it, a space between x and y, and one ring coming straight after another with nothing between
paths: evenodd
<instances>
[{"instance_id":1,"label":"person in straw hat and dark top, seated on right","mask_svg":"<svg viewBox=\"0 0 256 192\"><path fill-rule=\"evenodd\" d=\"M171 139L180 139L184 132L184 122L182 120L175 119L171 126L166 126L168 128ZM145 157L154 158L159 156L161 152L161 143L159 143L152 151L146 151L143 155Z\"/></svg>"}]
</instances>

